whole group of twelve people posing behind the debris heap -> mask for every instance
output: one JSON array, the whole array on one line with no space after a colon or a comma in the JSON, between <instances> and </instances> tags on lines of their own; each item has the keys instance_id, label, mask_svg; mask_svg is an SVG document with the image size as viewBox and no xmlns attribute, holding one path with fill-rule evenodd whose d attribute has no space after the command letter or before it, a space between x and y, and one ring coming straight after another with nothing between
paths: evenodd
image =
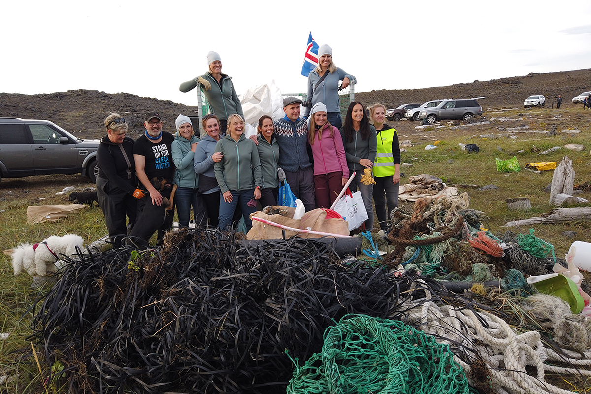
<instances>
[{"instance_id":1,"label":"whole group of twelve people posing behind the debris heap","mask_svg":"<svg viewBox=\"0 0 591 394\"><path fill-rule=\"evenodd\" d=\"M308 79L308 102L286 97L284 116L275 121L261 116L250 138L232 79L222 74L222 61L213 51L207 54L208 72L180 86L183 92L199 86L207 97L212 113L203 118L203 139L182 114L174 136L162 131L158 112L148 113L144 135L136 141L125 136L128 125L121 115L109 115L97 150L96 187L112 242L145 249L154 232L162 242L173 223L170 200L180 227L189 226L192 208L197 226L228 230L242 216L249 230L257 203L277 205L281 181L307 211L329 208L353 172L349 188L361 191L368 213L365 229L374 226L375 201L386 231L388 213L398 205L398 134L385 123L381 104L372 106L368 116L361 103L350 103L343 121L337 89L355 77L335 66L328 45L318 55ZM374 182L366 181L368 174Z\"/></svg>"}]
</instances>

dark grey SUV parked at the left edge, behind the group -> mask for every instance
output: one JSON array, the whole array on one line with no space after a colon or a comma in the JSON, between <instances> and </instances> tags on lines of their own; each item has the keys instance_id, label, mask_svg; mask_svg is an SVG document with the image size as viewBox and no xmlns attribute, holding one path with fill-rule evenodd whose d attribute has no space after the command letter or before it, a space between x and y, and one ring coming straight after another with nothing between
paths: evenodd
<instances>
[{"instance_id":1,"label":"dark grey SUV parked at the left edge, behind the group","mask_svg":"<svg viewBox=\"0 0 591 394\"><path fill-rule=\"evenodd\" d=\"M94 182L99 143L76 138L50 121L0 118L0 179L82 174Z\"/></svg>"}]
</instances>

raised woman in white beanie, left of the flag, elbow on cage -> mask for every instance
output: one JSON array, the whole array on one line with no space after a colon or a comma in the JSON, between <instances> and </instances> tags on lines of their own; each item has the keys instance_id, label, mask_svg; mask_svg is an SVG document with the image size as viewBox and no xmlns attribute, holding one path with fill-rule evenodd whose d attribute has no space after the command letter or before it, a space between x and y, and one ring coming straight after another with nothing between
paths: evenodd
<instances>
[{"instance_id":1,"label":"raised woman in white beanie, left of the flag, elbow on cage","mask_svg":"<svg viewBox=\"0 0 591 394\"><path fill-rule=\"evenodd\" d=\"M222 59L217 52L209 51L207 66L209 67L207 73L181 83L179 89L181 92L189 92L199 84L205 94L210 111L220 119L220 126L222 127L220 132L225 133L228 116L232 115L232 113L238 113L244 118L242 105L236 94L236 89L234 89L232 77L222 74Z\"/></svg>"}]
</instances>

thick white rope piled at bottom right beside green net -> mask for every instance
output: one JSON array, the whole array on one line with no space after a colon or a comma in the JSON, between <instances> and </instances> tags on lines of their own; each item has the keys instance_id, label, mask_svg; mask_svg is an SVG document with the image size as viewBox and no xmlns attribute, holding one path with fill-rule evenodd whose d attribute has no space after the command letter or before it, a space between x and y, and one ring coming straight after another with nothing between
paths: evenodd
<instances>
[{"instance_id":1,"label":"thick white rope piled at bottom right beside green net","mask_svg":"<svg viewBox=\"0 0 591 394\"><path fill-rule=\"evenodd\" d=\"M551 361L587 366L591 364L591 351L565 351L567 356L558 354L544 347L538 331L517 334L506 321L488 312L476 315L471 310L437 306L428 301L421 307L411 308L408 313L409 324L435 336L437 341L476 350L486 363L492 388L499 394L572 394L569 390L545 382L545 374L591 376L591 371L545 364ZM479 316L488 327L480 323ZM472 381L472 367L469 364L458 356L454 356L454 360L466 371L471 385L479 383ZM527 367L535 370L535 373L530 374Z\"/></svg>"}]
</instances>

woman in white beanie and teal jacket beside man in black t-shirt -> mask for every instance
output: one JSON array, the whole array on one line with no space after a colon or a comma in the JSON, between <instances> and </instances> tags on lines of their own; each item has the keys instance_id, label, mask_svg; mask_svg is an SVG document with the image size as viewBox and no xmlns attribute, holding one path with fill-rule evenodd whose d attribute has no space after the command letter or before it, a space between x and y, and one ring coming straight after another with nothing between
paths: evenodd
<instances>
[{"instance_id":1,"label":"woman in white beanie and teal jacket beside man in black t-shirt","mask_svg":"<svg viewBox=\"0 0 591 394\"><path fill-rule=\"evenodd\" d=\"M199 193L199 175L193 170L194 152L200 140L194 135L189 116L178 115L174 123L178 130L172 143L172 156L176 167L173 182L177 185L174 204L177 206L178 225L189 227L192 206L195 224L204 227L207 226L207 213Z\"/></svg>"}]
</instances>

